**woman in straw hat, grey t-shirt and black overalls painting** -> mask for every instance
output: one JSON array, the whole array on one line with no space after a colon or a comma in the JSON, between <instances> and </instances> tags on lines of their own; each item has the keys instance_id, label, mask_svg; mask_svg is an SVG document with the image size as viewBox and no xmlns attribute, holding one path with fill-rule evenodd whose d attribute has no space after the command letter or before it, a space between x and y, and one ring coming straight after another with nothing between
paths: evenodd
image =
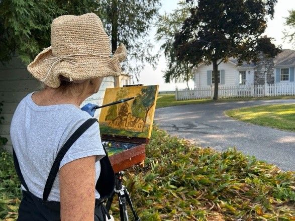
<instances>
[{"instance_id":1,"label":"woman in straw hat, grey t-shirt and black overalls painting","mask_svg":"<svg viewBox=\"0 0 295 221\"><path fill-rule=\"evenodd\" d=\"M100 199L112 191L114 172L91 118L95 105L79 106L99 91L103 77L120 75L125 58L123 44L111 54L95 14L53 20L51 46L28 65L44 88L23 98L11 124L23 190L18 220L110 218Z\"/></svg>"}]
</instances>

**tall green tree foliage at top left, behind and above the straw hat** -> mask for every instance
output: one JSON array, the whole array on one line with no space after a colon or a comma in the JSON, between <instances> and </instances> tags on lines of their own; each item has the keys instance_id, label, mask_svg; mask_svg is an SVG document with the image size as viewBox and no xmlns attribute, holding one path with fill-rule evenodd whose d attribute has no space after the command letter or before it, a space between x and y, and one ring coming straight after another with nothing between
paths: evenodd
<instances>
[{"instance_id":1,"label":"tall green tree foliage at top left, behind and above the straw hat","mask_svg":"<svg viewBox=\"0 0 295 221\"><path fill-rule=\"evenodd\" d=\"M82 15L93 12L102 19L112 37L112 48L119 42L127 47L124 69L138 78L145 62L155 66L157 55L146 40L159 0L2 0L0 1L0 61L7 62L16 52L26 63L50 46L50 25L60 15ZM115 16L116 15L116 16ZM113 39L116 41L114 42ZM114 52L115 50L113 50Z\"/></svg>"}]
</instances>

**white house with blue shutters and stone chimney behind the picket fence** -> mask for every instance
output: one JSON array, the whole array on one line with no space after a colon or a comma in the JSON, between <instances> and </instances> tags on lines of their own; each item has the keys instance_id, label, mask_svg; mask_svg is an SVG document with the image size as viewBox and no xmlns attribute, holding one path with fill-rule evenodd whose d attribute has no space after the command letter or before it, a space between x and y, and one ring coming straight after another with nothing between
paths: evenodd
<instances>
[{"instance_id":1,"label":"white house with blue shutters and stone chimney behind the picket fence","mask_svg":"<svg viewBox=\"0 0 295 221\"><path fill-rule=\"evenodd\" d=\"M256 64L244 62L238 65L237 59L229 58L218 66L218 82L221 86L261 85L294 83L295 51L284 49L275 58L265 58L262 54ZM200 64L194 69L194 87L214 85L213 66Z\"/></svg>"}]
</instances>

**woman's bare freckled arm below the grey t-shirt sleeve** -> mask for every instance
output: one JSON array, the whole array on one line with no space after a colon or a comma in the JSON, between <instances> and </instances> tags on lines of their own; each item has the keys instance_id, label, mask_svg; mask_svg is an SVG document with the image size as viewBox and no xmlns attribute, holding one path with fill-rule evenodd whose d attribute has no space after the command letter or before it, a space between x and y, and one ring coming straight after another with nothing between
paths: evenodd
<instances>
[{"instance_id":1,"label":"woman's bare freckled arm below the grey t-shirt sleeve","mask_svg":"<svg viewBox=\"0 0 295 221\"><path fill-rule=\"evenodd\" d=\"M94 220L95 157L73 160L60 168L61 221Z\"/></svg>"}]
</instances>

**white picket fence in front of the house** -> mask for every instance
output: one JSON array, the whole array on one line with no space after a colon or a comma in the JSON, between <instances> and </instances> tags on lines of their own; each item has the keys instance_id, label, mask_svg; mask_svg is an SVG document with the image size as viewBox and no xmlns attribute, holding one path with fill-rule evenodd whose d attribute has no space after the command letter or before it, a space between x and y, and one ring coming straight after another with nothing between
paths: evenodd
<instances>
[{"instance_id":1,"label":"white picket fence in front of the house","mask_svg":"<svg viewBox=\"0 0 295 221\"><path fill-rule=\"evenodd\" d=\"M194 89L175 89L176 100L212 98L214 86ZM219 98L295 95L295 83L219 86Z\"/></svg>"}]
</instances>

